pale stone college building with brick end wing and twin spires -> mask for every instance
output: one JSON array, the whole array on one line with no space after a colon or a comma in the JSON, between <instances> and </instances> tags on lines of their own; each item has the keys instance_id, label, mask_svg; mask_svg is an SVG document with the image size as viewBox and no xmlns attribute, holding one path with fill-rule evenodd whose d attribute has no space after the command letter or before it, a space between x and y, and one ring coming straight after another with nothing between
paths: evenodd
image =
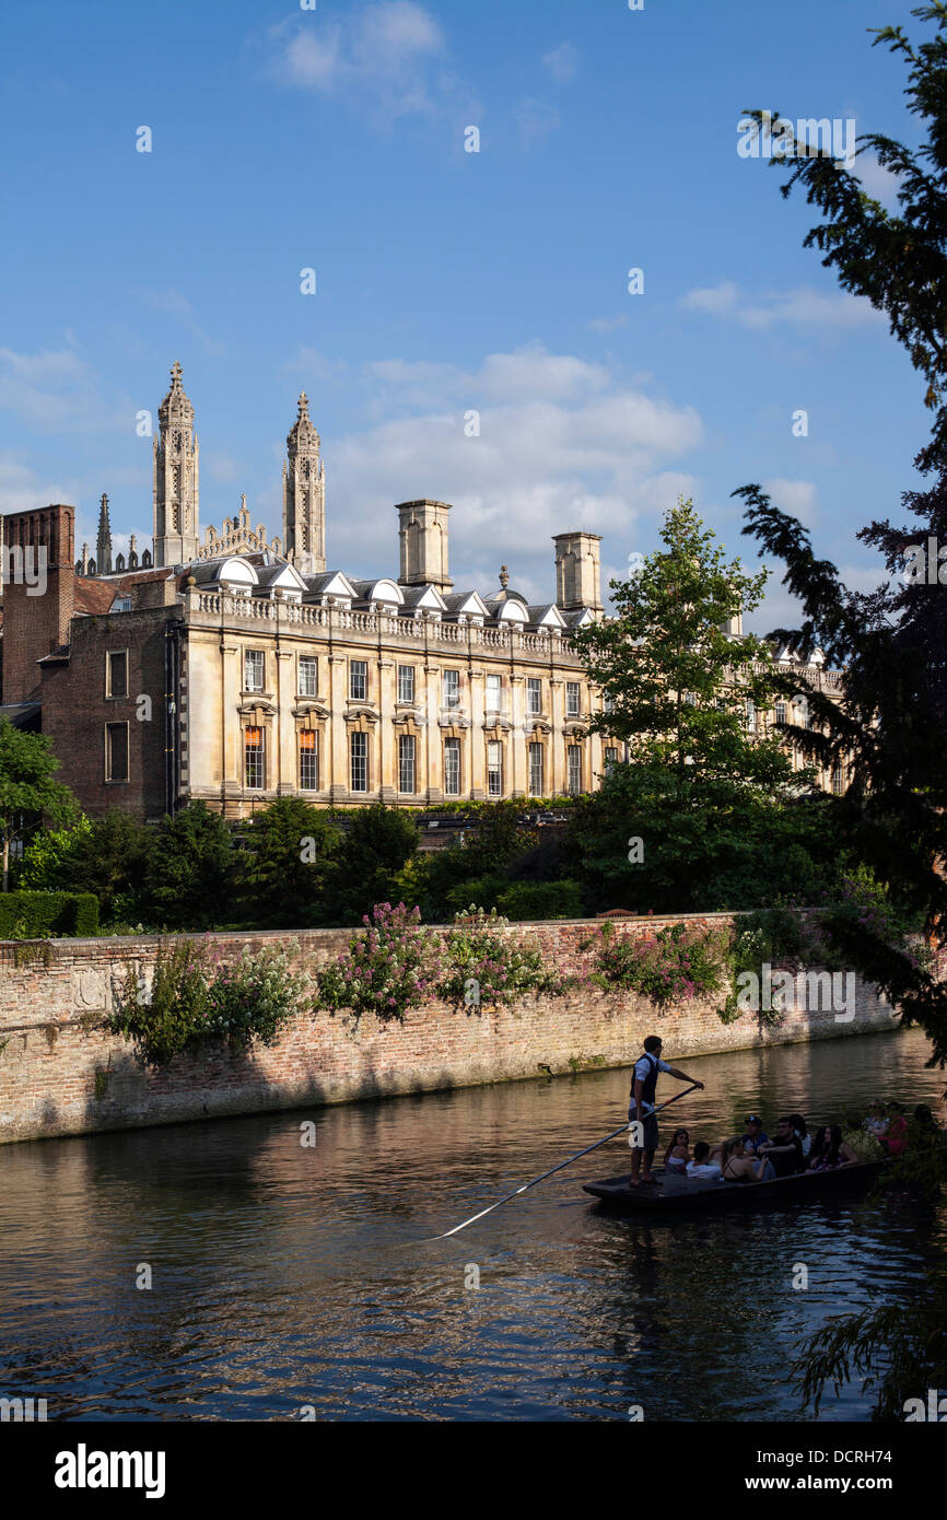
<instances>
[{"instance_id":1,"label":"pale stone college building with brick end wing and twin spires","mask_svg":"<svg viewBox=\"0 0 947 1520\"><path fill-rule=\"evenodd\" d=\"M201 541L179 365L158 421L152 552L132 546L112 568L108 497L96 559L85 546L74 558L68 505L5 518L6 543L46 547L49 572L43 596L6 588L3 710L49 734L88 813L552 796L594 789L623 758L590 733L602 698L570 643L603 616L597 535L553 537L546 605L506 567L493 591L454 588L445 502L395 508L397 579L327 568L325 471L301 395L283 538L254 529L242 499ZM818 666L800 675L841 681Z\"/></svg>"}]
</instances>

